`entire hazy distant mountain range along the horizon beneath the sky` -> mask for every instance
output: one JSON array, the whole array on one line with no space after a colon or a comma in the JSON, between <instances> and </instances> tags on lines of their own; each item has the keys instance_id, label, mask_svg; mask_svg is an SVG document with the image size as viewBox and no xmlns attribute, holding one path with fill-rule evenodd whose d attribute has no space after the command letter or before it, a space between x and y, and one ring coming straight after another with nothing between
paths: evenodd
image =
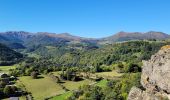
<instances>
[{"instance_id":1,"label":"entire hazy distant mountain range along the horizon beneath the sky","mask_svg":"<svg viewBox=\"0 0 170 100\"><path fill-rule=\"evenodd\" d=\"M73 36L69 33L30 33L24 31L8 31L0 33L0 43L10 46L19 46L24 48L25 45L53 44L53 43L113 43L128 40L143 40L143 39L168 39L170 35L163 32L150 31L146 33L140 32L119 32L109 37L94 39Z\"/></svg>"}]
</instances>

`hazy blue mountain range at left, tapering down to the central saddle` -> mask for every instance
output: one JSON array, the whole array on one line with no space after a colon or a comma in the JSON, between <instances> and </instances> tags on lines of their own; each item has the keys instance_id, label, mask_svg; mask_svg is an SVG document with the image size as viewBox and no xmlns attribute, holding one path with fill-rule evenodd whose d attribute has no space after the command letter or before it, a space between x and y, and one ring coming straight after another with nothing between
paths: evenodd
<instances>
[{"instance_id":1,"label":"hazy blue mountain range at left, tapering down to the central saddle","mask_svg":"<svg viewBox=\"0 0 170 100\"><path fill-rule=\"evenodd\" d=\"M57 43L65 44L69 42L93 44L96 43L96 41L97 40L95 39L73 36L70 35L69 33L61 33L61 34L48 33L48 32L30 33L24 31L9 31L9 32L0 33L0 43L4 43L9 47L12 44L16 44L16 43L18 45L23 45L24 47L30 48L38 45L49 45L49 44L57 44Z\"/></svg>"}]
</instances>

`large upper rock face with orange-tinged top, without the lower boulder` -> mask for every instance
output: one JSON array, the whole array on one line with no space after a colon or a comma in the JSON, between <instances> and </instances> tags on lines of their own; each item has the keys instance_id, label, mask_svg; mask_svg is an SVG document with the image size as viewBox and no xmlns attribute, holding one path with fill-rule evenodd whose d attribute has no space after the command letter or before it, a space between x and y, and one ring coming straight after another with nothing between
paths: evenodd
<instances>
[{"instance_id":1,"label":"large upper rock face with orange-tinged top, without the lower boulder","mask_svg":"<svg viewBox=\"0 0 170 100\"><path fill-rule=\"evenodd\" d=\"M161 49L151 60L143 63L141 84L145 88L155 86L170 93L170 48Z\"/></svg>"}]
</instances>

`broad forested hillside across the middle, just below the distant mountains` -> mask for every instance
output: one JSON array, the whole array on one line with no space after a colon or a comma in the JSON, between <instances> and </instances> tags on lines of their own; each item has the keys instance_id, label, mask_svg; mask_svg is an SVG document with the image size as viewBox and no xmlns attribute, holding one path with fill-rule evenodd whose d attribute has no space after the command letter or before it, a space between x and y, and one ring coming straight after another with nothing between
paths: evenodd
<instances>
[{"instance_id":1,"label":"broad forested hillside across the middle, just below the distant mountains","mask_svg":"<svg viewBox=\"0 0 170 100\"><path fill-rule=\"evenodd\" d=\"M141 62L147 60L163 45L169 42L154 41L130 41L105 45L102 47L70 47L64 46L40 46L28 53L30 57L38 57L36 62L42 68L47 66L56 67L89 67L112 65L118 62ZM35 66L34 63L31 63Z\"/></svg>"}]
</instances>

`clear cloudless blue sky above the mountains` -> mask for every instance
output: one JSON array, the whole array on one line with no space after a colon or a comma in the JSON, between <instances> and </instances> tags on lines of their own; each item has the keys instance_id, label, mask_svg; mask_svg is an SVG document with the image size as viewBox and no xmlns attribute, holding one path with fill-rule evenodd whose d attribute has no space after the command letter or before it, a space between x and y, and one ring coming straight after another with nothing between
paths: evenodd
<instances>
[{"instance_id":1,"label":"clear cloudless blue sky above the mountains","mask_svg":"<svg viewBox=\"0 0 170 100\"><path fill-rule=\"evenodd\" d=\"M170 33L170 0L0 0L0 31Z\"/></svg>"}]
</instances>

